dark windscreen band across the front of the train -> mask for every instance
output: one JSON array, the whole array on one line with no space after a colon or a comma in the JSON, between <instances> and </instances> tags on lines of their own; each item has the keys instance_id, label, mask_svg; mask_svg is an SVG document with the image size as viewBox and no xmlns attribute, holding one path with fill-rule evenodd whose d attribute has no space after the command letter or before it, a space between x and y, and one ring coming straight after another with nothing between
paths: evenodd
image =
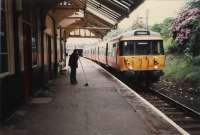
<instances>
[{"instance_id":1,"label":"dark windscreen band across the front of the train","mask_svg":"<svg viewBox=\"0 0 200 135\"><path fill-rule=\"evenodd\" d=\"M162 40L137 40L137 41L122 41L120 43L120 55L163 55Z\"/></svg>"}]
</instances>

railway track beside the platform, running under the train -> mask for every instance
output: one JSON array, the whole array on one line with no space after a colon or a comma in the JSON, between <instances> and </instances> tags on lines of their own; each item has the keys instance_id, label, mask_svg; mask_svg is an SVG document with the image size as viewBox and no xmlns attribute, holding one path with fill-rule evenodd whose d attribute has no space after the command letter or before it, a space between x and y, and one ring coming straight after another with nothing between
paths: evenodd
<instances>
[{"instance_id":1,"label":"railway track beside the platform, running under the train","mask_svg":"<svg viewBox=\"0 0 200 135\"><path fill-rule=\"evenodd\" d=\"M108 68L106 68L106 70L134 89L139 95L163 112L189 134L200 135L199 112L151 88L148 88L147 90L144 90L144 88L135 88L132 84L129 84L129 82L122 80L123 77L115 73L113 70Z\"/></svg>"}]
</instances>

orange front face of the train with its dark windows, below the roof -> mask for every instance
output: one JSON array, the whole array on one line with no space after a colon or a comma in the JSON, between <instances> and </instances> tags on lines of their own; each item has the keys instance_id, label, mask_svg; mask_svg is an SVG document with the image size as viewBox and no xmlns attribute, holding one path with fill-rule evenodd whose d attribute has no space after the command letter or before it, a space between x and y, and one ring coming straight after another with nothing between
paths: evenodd
<instances>
[{"instance_id":1,"label":"orange front face of the train with its dark windows, below the roof","mask_svg":"<svg viewBox=\"0 0 200 135\"><path fill-rule=\"evenodd\" d=\"M159 78L165 67L165 55L161 38L152 40L121 40L118 63L124 73Z\"/></svg>"}]
</instances>

